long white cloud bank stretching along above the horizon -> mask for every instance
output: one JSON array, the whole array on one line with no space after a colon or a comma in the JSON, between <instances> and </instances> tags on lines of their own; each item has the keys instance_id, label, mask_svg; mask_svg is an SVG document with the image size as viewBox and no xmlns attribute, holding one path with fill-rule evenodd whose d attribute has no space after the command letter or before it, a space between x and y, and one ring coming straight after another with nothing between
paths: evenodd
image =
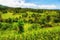
<instances>
[{"instance_id":1,"label":"long white cloud bank stretching along above the horizon","mask_svg":"<svg viewBox=\"0 0 60 40\"><path fill-rule=\"evenodd\" d=\"M56 9L56 5L36 5L34 3L25 3L25 0L0 0L0 4L9 7Z\"/></svg>"}]
</instances>

